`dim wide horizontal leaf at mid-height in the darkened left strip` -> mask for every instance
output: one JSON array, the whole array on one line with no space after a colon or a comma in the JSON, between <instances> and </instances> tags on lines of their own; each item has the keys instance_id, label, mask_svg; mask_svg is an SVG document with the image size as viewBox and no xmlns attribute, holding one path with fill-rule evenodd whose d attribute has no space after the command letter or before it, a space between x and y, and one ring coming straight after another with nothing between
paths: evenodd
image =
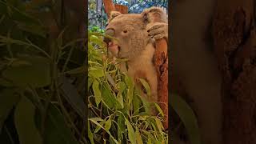
<instances>
[{"instance_id":1,"label":"dim wide horizontal leaf at mid-height in the darkened left strip","mask_svg":"<svg viewBox=\"0 0 256 144\"><path fill-rule=\"evenodd\" d=\"M22 56L3 70L2 77L15 86L44 87L50 84L50 61L39 56Z\"/></svg>"}]
</instances>

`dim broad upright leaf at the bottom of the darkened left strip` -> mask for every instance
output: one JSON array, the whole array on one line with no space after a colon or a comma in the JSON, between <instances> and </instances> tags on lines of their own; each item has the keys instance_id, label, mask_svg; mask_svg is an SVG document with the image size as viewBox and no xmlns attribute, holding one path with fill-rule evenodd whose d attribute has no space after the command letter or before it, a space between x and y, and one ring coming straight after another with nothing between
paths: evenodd
<instances>
[{"instance_id":1,"label":"dim broad upright leaf at the bottom of the darkened left strip","mask_svg":"<svg viewBox=\"0 0 256 144\"><path fill-rule=\"evenodd\" d=\"M14 113L14 122L21 144L42 144L42 138L34 122L35 107L25 96L22 97Z\"/></svg>"}]
</instances>

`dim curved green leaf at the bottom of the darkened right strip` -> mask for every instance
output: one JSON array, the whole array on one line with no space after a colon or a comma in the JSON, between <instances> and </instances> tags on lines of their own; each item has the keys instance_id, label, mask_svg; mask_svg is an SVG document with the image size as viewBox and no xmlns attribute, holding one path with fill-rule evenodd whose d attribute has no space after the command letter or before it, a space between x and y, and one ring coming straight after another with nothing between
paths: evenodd
<instances>
[{"instance_id":1,"label":"dim curved green leaf at the bottom of the darkened right strip","mask_svg":"<svg viewBox=\"0 0 256 144\"><path fill-rule=\"evenodd\" d=\"M191 144L200 144L200 133L198 128L198 121L194 111L180 96L177 94L170 94L170 105L181 118L186 127L187 134L190 138Z\"/></svg>"}]
</instances>

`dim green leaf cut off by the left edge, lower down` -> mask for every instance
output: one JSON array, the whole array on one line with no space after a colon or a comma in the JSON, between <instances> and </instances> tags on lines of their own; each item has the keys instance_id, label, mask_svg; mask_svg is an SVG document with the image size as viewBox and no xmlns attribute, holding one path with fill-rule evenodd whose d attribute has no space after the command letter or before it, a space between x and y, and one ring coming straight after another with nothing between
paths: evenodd
<instances>
[{"instance_id":1,"label":"dim green leaf cut off by the left edge, lower down","mask_svg":"<svg viewBox=\"0 0 256 144\"><path fill-rule=\"evenodd\" d=\"M16 90L12 88L6 88L0 92L0 133L3 122L5 122L10 110L12 110L19 100L19 95L15 93Z\"/></svg>"}]
</instances>

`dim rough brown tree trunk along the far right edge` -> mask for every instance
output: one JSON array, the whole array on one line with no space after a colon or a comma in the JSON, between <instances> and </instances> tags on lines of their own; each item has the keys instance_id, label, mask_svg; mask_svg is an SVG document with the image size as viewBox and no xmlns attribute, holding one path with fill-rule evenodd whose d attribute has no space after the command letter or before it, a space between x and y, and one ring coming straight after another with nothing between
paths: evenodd
<instances>
[{"instance_id":1,"label":"dim rough brown tree trunk along the far right edge","mask_svg":"<svg viewBox=\"0 0 256 144\"><path fill-rule=\"evenodd\" d=\"M218 0L214 49L222 71L223 143L256 143L254 0Z\"/></svg>"}]
</instances>

